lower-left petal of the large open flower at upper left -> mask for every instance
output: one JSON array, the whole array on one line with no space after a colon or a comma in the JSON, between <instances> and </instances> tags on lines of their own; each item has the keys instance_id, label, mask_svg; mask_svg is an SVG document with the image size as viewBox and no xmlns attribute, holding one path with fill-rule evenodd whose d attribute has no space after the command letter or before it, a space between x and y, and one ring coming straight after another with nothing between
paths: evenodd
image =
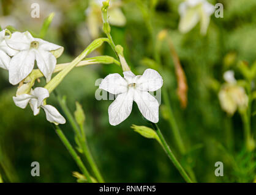
<instances>
[{"instance_id":1,"label":"lower-left petal of the large open flower at upper left","mask_svg":"<svg viewBox=\"0 0 256 195\"><path fill-rule=\"evenodd\" d=\"M34 51L20 51L10 60L9 82L17 85L25 79L34 68L35 53Z\"/></svg>"}]
</instances>

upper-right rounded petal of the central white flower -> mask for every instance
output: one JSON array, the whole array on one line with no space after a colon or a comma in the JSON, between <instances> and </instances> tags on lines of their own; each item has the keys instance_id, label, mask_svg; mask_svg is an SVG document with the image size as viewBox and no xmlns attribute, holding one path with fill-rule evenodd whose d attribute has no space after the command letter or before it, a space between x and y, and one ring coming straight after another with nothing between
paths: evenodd
<instances>
[{"instance_id":1,"label":"upper-right rounded petal of the central white flower","mask_svg":"<svg viewBox=\"0 0 256 195\"><path fill-rule=\"evenodd\" d=\"M163 79L154 69L146 69L137 79L137 89L141 91L156 91L163 85Z\"/></svg>"}]
</instances>

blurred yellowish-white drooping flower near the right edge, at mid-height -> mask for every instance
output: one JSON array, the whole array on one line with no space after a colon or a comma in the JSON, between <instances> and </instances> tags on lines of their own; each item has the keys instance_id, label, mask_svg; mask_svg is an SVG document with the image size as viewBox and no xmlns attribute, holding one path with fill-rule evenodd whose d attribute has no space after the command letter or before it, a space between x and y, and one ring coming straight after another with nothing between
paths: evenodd
<instances>
[{"instance_id":1,"label":"blurred yellowish-white drooping flower near the right edge, at mid-height","mask_svg":"<svg viewBox=\"0 0 256 195\"><path fill-rule=\"evenodd\" d=\"M243 87L236 84L235 73L227 71L224 73L226 83L219 91L219 101L222 109L229 115L233 115L237 109L243 111L248 105L248 96Z\"/></svg>"}]
</instances>

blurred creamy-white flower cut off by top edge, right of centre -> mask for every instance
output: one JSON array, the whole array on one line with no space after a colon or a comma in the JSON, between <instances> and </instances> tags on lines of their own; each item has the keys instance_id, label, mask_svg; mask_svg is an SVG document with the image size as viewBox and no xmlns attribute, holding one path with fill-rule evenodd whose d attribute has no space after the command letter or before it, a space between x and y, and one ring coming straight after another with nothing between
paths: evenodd
<instances>
[{"instance_id":1,"label":"blurred creamy-white flower cut off by top edge, right of centre","mask_svg":"<svg viewBox=\"0 0 256 195\"><path fill-rule=\"evenodd\" d=\"M179 30L189 32L200 21L201 34L205 35L215 7L206 0L187 0L179 5Z\"/></svg>"}]
</instances>

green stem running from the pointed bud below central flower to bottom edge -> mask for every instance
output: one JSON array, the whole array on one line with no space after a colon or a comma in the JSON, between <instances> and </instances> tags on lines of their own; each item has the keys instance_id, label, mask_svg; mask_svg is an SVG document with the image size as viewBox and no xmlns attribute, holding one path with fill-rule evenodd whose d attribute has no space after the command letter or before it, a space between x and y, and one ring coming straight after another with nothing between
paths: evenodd
<instances>
[{"instance_id":1,"label":"green stem running from the pointed bud below central flower to bottom edge","mask_svg":"<svg viewBox=\"0 0 256 195\"><path fill-rule=\"evenodd\" d=\"M153 126L154 130L156 130L156 133L157 133L157 135L158 135L158 137L159 137L159 139L162 143L160 145L163 147L164 151L166 152L166 154L168 155L168 157L172 161L173 165L175 165L175 167L178 169L179 173L181 174L181 176L183 176L184 180L186 180L187 183L193 183L192 180L190 179L190 177L187 175L186 171L183 169L183 167L179 163L179 161L176 159L173 152L171 152L171 149L168 146L168 144L166 143L166 141L164 139L164 136L162 135L159 127L157 126L157 124L152 122L152 126Z\"/></svg>"}]
</instances>

